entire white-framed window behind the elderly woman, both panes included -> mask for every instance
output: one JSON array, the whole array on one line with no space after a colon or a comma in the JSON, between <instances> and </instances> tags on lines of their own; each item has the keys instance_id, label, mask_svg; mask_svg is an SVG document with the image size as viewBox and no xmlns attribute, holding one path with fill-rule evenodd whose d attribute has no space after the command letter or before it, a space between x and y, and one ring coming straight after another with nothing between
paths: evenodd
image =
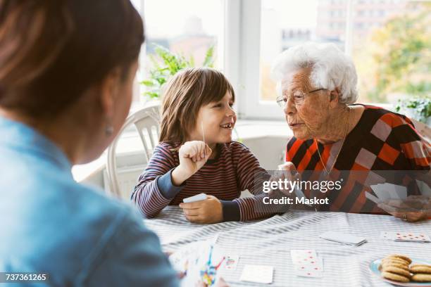
<instances>
[{"instance_id":1,"label":"entire white-framed window behind the elderly woman, both panes included","mask_svg":"<svg viewBox=\"0 0 431 287\"><path fill-rule=\"evenodd\" d=\"M352 56L358 72L358 102L393 104L406 94L431 91L427 1L239 1L243 43L239 111L243 117L283 117L274 103L277 95L270 66L280 52L307 41L333 42Z\"/></svg>"}]
</instances>

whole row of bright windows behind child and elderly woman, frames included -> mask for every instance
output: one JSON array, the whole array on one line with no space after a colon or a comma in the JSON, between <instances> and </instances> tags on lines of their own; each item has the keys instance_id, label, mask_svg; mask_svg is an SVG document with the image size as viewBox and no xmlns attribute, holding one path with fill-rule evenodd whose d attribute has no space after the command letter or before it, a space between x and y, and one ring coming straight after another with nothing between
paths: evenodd
<instances>
[{"instance_id":1,"label":"whole row of bright windows behind child and elderly woman, frames included","mask_svg":"<svg viewBox=\"0 0 431 287\"><path fill-rule=\"evenodd\" d=\"M242 118L284 116L274 101L270 67L280 52L308 41L333 42L352 56L359 102L394 103L431 90L426 1L132 1L144 13L147 32L138 79L146 77L154 43L192 56L196 65L213 45L215 67L232 82Z\"/></svg>"}]
</instances>

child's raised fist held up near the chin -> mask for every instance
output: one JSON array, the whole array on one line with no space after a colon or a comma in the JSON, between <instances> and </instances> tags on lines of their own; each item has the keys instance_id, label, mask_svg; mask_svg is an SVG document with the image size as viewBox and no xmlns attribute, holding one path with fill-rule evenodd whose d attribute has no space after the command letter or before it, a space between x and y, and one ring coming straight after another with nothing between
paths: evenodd
<instances>
[{"instance_id":1,"label":"child's raised fist held up near the chin","mask_svg":"<svg viewBox=\"0 0 431 287\"><path fill-rule=\"evenodd\" d=\"M210 157L211 148L204 141L187 141L178 151L180 165L172 172L173 184L180 186L205 165Z\"/></svg>"}]
</instances>

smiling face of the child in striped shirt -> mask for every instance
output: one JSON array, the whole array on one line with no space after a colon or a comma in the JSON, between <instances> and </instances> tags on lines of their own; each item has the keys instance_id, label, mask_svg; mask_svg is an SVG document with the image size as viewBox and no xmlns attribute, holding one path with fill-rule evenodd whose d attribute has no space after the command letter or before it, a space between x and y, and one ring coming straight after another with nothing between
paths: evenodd
<instances>
[{"instance_id":1,"label":"smiling face of the child in striped shirt","mask_svg":"<svg viewBox=\"0 0 431 287\"><path fill-rule=\"evenodd\" d=\"M188 140L202 141L204 132L208 145L232 141L232 129L237 122L233 103L232 95L227 92L220 101L202 106L196 117L196 127L189 132Z\"/></svg>"}]
</instances>

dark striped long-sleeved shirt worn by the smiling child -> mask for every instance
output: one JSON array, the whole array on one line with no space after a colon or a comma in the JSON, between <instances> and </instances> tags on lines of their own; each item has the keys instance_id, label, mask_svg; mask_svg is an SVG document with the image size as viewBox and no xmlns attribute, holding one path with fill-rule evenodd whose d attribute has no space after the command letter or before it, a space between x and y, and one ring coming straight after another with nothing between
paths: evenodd
<instances>
[{"instance_id":1,"label":"dark striped long-sleeved shirt worn by the smiling child","mask_svg":"<svg viewBox=\"0 0 431 287\"><path fill-rule=\"evenodd\" d=\"M256 203L266 196L262 189L254 188L256 174L269 175L259 164L249 148L236 141L218 144L217 157L208 160L181 186L171 181L172 170L180 165L174 144L162 142L154 153L132 193L132 201L142 215L154 217L167 205L179 205L184 198L206 193L218 198L223 205L223 220L249 220L268 216L268 212L256 212ZM249 189L253 197L239 198L241 191Z\"/></svg>"}]
</instances>

